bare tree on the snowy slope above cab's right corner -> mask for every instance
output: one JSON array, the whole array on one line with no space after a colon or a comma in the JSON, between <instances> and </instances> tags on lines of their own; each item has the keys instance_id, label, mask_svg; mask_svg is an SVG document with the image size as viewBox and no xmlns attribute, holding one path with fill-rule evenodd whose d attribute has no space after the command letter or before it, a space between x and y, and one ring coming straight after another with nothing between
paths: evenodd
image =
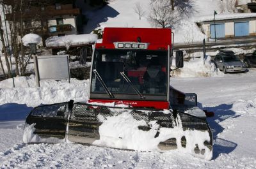
<instances>
[{"instance_id":1,"label":"bare tree on the snowy slope above cab's right corner","mask_svg":"<svg viewBox=\"0 0 256 169\"><path fill-rule=\"evenodd\" d=\"M155 27L173 27L179 23L180 15L170 8L169 0L155 0L150 4L148 20Z\"/></svg>"}]
</instances>

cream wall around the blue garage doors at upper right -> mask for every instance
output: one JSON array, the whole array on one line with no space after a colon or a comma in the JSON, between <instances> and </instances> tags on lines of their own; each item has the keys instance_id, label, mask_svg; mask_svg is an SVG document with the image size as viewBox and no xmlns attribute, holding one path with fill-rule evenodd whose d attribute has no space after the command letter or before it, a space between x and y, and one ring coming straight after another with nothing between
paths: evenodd
<instances>
[{"instance_id":1,"label":"cream wall around the blue garage doors at upper right","mask_svg":"<svg viewBox=\"0 0 256 169\"><path fill-rule=\"evenodd\" d=\"M225 38L232 38L235 36L235 22L249 22L249 34L250 36L256 36L256 18L241 18L236 20L218 20L216 24L225 24ZM211 37L210 26L214 24L211 22L201 23L201 28L208 38Z\"/></svg>"}]
</instances>

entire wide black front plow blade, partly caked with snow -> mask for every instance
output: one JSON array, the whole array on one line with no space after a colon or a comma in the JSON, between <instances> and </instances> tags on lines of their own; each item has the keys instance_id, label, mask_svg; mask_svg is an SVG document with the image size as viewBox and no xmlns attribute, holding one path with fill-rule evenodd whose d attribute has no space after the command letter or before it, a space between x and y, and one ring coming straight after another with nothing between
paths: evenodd
<instances>
[{"instance_id":1,"label":"entire wide black front plow blade, partly caked with snow","mask_svg":"<svg viewBox=\"0 0 256 169\"><path fill-rule=\"evenodd\" d=\"M26 124L33 133L29 138L25 129L26 142L51 142L56 138L138 151L179 149L205 159L212 157L212 132L207 121L183 112L70 101L34 108Z\"/></svg>"}]
</instances>

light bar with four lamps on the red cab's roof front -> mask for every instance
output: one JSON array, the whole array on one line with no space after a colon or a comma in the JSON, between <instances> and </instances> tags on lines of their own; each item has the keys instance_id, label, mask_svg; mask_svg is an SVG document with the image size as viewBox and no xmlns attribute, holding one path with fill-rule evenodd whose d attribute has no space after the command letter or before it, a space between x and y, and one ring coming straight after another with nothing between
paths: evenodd
<instances>
[{"instance_id":1,"label":"light bar with four lamps on the red cab's roof front","mask_svg":"<svg viewBox=\"0 0 256 169\"><path fill-rule=\"evenodd\" d=\"M147 49L149 43L140 42L115 42L115 48Z\"/></svg>"}]
</instances>

